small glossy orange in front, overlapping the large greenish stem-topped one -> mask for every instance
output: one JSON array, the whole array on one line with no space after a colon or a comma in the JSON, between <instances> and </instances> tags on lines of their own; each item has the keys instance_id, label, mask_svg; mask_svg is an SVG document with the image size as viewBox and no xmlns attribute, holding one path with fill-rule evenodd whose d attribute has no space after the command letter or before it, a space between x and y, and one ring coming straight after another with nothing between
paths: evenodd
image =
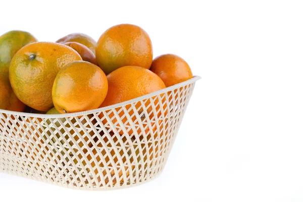
<instances>
[{"instance_id":1,"label":"small glossy orange in front, overlapping the large greenish stem-topped one","mask_svg":"<svg viewBox=\"0 0 303 202\"><path fill-rule=\"evenodd\" d=\"M97 109L108 92L104 72L96 65L76 61L65 66L57 75L53 87L55 108L61 113Z\"/></svg>"}]
</instances>

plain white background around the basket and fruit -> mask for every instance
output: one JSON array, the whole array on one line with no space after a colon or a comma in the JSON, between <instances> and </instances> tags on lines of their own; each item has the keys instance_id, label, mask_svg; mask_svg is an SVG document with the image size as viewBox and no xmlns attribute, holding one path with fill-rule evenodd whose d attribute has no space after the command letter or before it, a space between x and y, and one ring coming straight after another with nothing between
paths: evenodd
<instances>
[{"instance_id":1,"label":"plain white background around the basket and fruit","mask_svg":"<svg viewBox=\"0 0 303 202\"><path fill-rule=\"evenodd\" d=\"M75 191L0 174L16 201L303 201L301 1L2 1L0 33L95 40L141 26L155 57L184 58L196 83L163 174L134 188Z\"/></svg>"}]
</instances>

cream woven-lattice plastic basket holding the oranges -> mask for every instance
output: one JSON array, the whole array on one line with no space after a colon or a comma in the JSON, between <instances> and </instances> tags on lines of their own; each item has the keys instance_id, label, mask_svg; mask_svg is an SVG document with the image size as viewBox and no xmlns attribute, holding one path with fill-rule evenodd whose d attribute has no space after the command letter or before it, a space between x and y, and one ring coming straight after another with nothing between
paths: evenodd
<instances>
[{"instance_id":1,"label":"cream woven-lattice plastic basket holding the oranges","mask_svg":"<svg viewBox=\"0 0 303 202\"><path fill-rule=\"evenodd\" d=\"M166 164L198 79L81 113L0 110L0 172L83 190L154 179Z\"/></svg>"}]
</instances>

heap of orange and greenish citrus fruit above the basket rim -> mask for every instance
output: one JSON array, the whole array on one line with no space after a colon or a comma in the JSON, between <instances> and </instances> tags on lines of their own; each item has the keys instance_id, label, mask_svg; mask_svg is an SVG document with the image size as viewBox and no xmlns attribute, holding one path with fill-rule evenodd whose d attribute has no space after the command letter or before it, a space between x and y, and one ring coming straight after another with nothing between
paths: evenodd
<instances>
[{"instance_id":1,"label":"heap of orange and greenish citrus fruit above the basket rim","mask_svg":"<svg viewBox=\"0 0 303 202\"><path fill-rule=\"evenodd\" d=\"M56 42L38 42L24 31L0 36L0 109L4 110L82 112L192 77L188 64L176 55L153 60L148 34L131 24L109 28L97 42L81 33Z\"/></svg>"}]
</instances>

